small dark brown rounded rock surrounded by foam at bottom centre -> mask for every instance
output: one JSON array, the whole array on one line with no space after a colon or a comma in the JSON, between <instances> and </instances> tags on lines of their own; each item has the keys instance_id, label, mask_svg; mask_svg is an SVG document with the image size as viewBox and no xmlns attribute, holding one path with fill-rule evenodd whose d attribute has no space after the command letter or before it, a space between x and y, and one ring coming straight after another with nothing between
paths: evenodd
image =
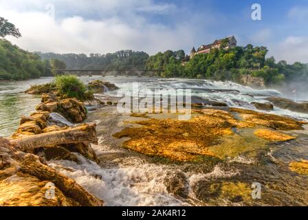
<instances>
[{"instance_id":1,"label":"small dark brown rounded rock surrounded by foam at bottom centre","mask_svg":"<svg viewBox=\"0 0 308 220\"><path fill-rule=\"evenodd\" d=\"M169 193L184 199L188 197L189 184L184 173L168 173L166 179L164 180L164 184Z\"/></svg>"}]
</instances>

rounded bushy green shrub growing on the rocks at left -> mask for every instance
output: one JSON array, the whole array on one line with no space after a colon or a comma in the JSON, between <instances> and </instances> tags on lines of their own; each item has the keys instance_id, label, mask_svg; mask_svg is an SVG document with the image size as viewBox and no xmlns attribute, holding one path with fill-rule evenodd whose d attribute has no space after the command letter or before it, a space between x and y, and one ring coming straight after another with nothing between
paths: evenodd
<instances>
[{"instance_id":1,"label":"rounded bushy green shrub growing on the rocks at left","mask_svg":"<svg viewBox=\"0 0 308 220\"><path fill-rule=\"evenodd\" d=\"M56 76L56 89L58 94L67 98L77 98L78 100L86 100L85 91L87 90L83 82L77 76Z\"/></svg>"}]
</instances>

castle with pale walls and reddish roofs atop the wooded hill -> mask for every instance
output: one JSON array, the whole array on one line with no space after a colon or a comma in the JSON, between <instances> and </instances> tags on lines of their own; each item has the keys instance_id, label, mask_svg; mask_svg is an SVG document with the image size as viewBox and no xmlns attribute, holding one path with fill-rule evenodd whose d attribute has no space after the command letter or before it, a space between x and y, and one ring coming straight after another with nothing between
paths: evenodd
<instances>
[{"instance_id":1,"label":"castle with pale walls and reddish roofs atop the wooded hill","mask_svg":"<svg viewBox=\"0 0 308 220\"><path fill-rule=\"evenodd\" d=\"M214 41L214 43L211 43L209 45L201 45L198 50L195 50L195 47L192 47L192 50L190 52L190 58L192 56L195 56L196 54L208 54L211 50L217 48L221 48L223 45L223 49L228 50L229 48L236 47L237 41L234 36L228 36L225 39L219 39Z\"/></svg>"}]
</instances>

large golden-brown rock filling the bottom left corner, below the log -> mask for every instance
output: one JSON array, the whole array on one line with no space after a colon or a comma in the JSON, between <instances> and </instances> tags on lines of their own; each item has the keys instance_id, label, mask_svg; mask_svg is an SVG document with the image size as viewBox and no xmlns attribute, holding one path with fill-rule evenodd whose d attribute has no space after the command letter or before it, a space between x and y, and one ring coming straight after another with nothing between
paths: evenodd
<instances>
[{"instance_id":1,"label":"large golden-brown rock filling the bottom left corner, below the log","mask_svg":"<svg viewBox=\"0 0 308 220\"><path fill-rule=\"evenodd\" d=\"M18 151L2 137L0 156L0 206L103 205L73 179L47 166L41 157Z\"/></svg>"}]
</instances>

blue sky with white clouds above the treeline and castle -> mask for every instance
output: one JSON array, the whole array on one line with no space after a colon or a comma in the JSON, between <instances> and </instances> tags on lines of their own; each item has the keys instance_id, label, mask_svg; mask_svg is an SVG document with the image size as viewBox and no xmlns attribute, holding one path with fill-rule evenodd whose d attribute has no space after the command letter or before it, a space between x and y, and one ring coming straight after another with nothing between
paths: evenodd
<instances>
[{"instance_id":1,"label":"blue sky with white clouds above the treeline and castle","mask_svg":"<svg viewBox=\"0 0 308 220\"><path fill-rule=\"evenodd\" d=\"M254 3L261 20L252 19ZM308 63L307 0L0 0L0 17L22 34L8 39L31 52L189 53L234 35L276 61Z\"/></svg>"}]
</instances>

